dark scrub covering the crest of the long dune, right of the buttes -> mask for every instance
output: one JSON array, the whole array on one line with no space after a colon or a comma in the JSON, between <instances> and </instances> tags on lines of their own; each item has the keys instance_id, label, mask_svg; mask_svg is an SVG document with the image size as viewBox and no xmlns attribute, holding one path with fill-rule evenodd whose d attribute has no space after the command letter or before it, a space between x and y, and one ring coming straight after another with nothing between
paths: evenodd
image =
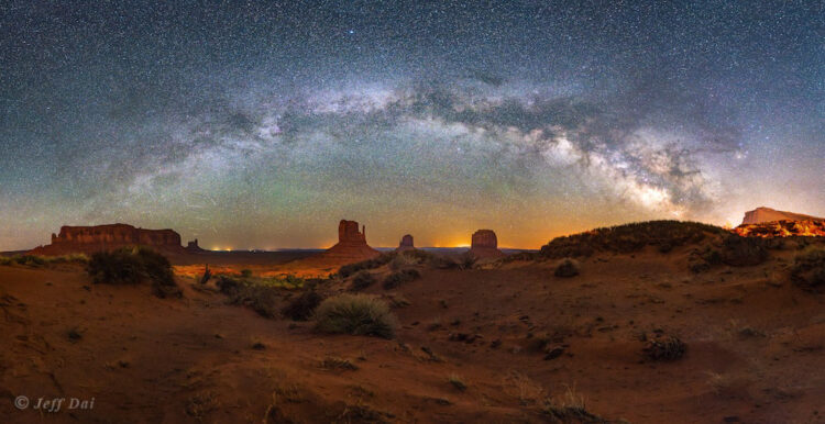
<instances>
[{"instance_id":1,"label":"dark scrub covering the crest of the long dune, right of the buttes","mask_svg":"<svg viewBox=\"0 0 825 424\"><path fill-rule=\"evenodd\" d=\"M657 246L667 253L678 246L698 243L708 235L725 235L718 226L697 222L648 221L596 228L581 234L557 237L541 246L546 258L591 256L596 252L632 253Z\"/></svg>"}]
</instances>

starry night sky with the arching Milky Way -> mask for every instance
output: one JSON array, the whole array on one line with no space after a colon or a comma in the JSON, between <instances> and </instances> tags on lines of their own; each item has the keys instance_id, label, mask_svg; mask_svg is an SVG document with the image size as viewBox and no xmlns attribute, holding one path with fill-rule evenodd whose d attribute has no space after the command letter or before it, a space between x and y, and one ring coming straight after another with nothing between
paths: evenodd
<instances>
[{"instance_id":1,"label":"starry night sky with the arching Milky Way","mask_svg":"<svg viewBox=\"0 0 825 424\"><path fill-rule=\"evenodd\" d=\"M0 250L825 215L824 4L3 1Z\"/></svg>"}]
</instances>

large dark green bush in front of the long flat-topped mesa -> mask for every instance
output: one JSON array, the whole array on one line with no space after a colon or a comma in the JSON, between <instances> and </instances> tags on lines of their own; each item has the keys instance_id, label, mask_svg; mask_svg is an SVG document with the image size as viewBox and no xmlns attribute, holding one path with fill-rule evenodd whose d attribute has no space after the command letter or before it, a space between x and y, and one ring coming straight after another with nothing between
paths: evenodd
<instances>
[{"instance_id":1,"label":"large dark green bush in front of the long flat-topped mesa","mask_svg":"<svg viewBox=\"0 0 825 424\"><path fill-rule=\"evenodd\" d=\"M145 247L98 252L91 256L87 271L95 283L138 284L150 281L152 292L158 298L182 295L169 260Z\"/></svg>"}]
</instances>

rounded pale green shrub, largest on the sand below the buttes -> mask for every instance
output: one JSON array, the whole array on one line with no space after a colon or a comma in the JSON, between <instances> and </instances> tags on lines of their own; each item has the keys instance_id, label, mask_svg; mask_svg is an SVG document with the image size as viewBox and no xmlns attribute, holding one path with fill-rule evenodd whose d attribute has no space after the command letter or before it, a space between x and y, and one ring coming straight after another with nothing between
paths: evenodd
<instances>
[{"instance_id":1,"label":"rounded pale green shrub, largest on the sand below the buttes","mask_svg":"<svg viewBox=\"0 0 825 424\"><path fill-rule=\"evenodd\" d=\"M316 328L322 333L393 338L397 325L386 303L364 294L340 294L316 309Z\"/></svg>"}]
</instances>

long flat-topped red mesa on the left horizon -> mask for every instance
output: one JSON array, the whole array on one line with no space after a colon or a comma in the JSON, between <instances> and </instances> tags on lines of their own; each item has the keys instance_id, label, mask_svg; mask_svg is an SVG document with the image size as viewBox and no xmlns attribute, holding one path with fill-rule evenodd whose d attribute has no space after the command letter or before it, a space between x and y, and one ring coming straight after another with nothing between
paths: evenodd
<instances>
[{"instance_id":1,"label":"long flat-topped red mesa on the left horizon","mask_svg":"<svg viewBox=\"0 0 825 424\"><path fill-rule=\"evenodd\" d=\"M148 246L165 253L183 253L180 234L172 230L144 230L128 224L63 226L52 234L52 244L33 249L33 255L91 254L125 246Z\"/></svg>"}]
</instances>

